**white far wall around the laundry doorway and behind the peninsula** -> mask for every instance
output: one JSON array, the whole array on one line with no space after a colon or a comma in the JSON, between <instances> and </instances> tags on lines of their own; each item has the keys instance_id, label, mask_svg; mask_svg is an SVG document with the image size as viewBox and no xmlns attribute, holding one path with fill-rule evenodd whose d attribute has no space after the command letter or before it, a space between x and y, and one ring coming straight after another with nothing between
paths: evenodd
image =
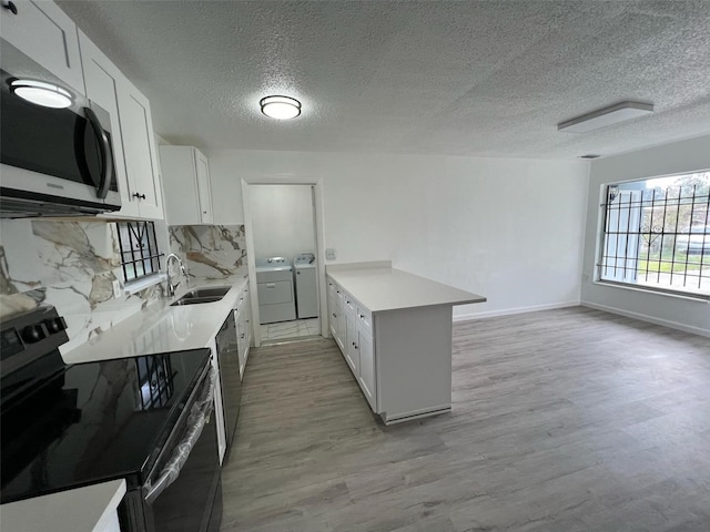
<instances>
[{"instance_id":1,"label":"white far wall around the laundry doorway and behind the peninsula","mask_svg":"<svg viewBox=\"0 0 710 532\"><path fill-rule=\"evenodd\" d=\"M236 183L323 181L336 263L395 267L488 297L455 316L579 303L589 164L581 161L210 152L215 213ZM243 214L219 223L243 223Z\"/></svg>"}]
</instances>

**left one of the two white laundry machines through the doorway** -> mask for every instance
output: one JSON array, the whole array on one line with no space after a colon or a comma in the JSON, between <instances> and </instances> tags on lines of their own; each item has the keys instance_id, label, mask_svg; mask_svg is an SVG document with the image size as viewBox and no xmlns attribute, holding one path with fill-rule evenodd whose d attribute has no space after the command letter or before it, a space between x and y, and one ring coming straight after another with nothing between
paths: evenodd
<instances>
[{"instance_id":1,"label":"left one of the two white laundry machines through the doorway","mask_svg":"<svg viewBox=\"0 0 710 532\"><path fill-rule=\"evenodd\" d=\"M257 258L256 287L262 325L296 319L293 267L286 258Z\"/></svg>"}]
</instances>

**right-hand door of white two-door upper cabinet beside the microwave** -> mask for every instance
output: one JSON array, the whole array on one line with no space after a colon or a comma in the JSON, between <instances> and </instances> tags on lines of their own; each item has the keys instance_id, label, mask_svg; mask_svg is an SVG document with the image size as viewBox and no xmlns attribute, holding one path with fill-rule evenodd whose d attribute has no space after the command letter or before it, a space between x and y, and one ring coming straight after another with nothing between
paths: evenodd
<instances>
[{"instance_id":1,"label":"right-hand door of white two-door upper cabinet beside the microwave","mask_svg":"<svg viewBox=\"0 0 710 532\"><path fill-rule=\"evenodd\" d=\"M123 135L129 201L138 203L138 211L142 218L163 219L161 178L158 173L150 102L128 79L123 79L119 85L119 115Z\"/></svg>"}]
</instances>

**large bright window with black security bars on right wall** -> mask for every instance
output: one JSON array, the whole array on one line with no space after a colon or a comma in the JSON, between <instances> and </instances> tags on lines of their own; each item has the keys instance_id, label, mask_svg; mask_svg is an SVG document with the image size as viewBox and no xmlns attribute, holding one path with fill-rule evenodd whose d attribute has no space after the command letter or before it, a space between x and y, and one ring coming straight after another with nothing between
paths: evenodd
<instances>
[{"instance_id":1,"label":"large bright window with black security bars on right wall","mask_svg":"<svg viewBox=\"0 0 710 532\"><path fill-rule=\"evenodd\" d=\"M710 172L606 187L599 279L710 299Z\"/></svg>"}]
</instances>

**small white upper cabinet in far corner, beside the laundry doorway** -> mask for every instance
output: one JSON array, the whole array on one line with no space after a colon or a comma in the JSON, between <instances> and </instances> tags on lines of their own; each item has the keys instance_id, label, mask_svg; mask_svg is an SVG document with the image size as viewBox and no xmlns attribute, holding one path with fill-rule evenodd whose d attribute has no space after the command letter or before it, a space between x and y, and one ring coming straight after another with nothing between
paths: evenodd
<instances>
[{"instance_id":1,"label":"small white upper cabinet in far corner, beside the laundry doorway","mask_svg":"<svg viewBox=\"0 0 710 532\"><path fill-rule=\"evenodd\" d=\"M193 146L160 146L160 160L168 224L212 224L207 157Z\"/></svg>"}]
</instances>

